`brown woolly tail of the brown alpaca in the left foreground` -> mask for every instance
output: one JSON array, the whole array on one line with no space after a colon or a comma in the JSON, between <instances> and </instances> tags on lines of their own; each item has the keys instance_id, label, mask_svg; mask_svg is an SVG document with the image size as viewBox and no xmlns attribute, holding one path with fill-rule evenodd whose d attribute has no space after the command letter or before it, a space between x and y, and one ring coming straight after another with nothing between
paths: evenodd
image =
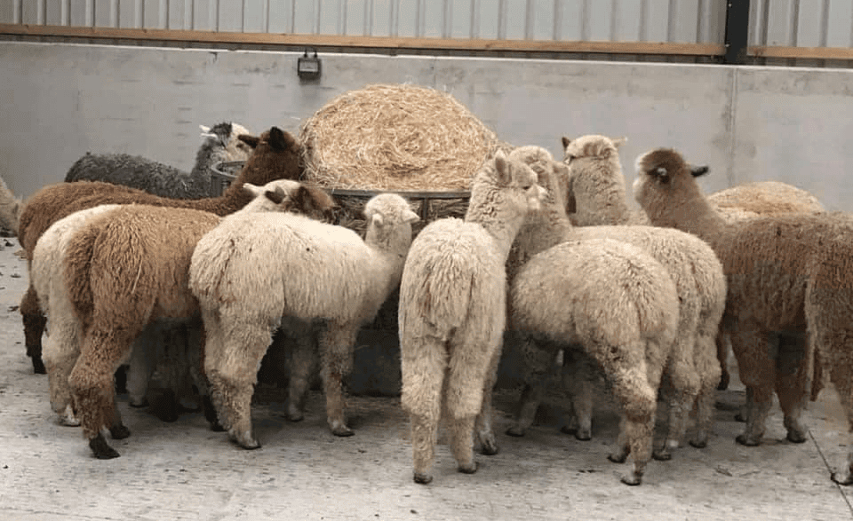
<instances>
[{"instance_id":1,"label":"brown woolly tail of the brown alpaca in the left foreground","mask_svg":"<svg viewBox=\"0 0 853 521\"><path fill-rule=\"evenodd\" d=\"M63 262L65 263L65 282L68 286L68 296L73 304L77 318L83 321L84 328L88 327L87 320L94 311L94 297L90 272L92 270L92 254L99 230L89 226L77 232L68 241Z\"/></svg>"}]
</instances>

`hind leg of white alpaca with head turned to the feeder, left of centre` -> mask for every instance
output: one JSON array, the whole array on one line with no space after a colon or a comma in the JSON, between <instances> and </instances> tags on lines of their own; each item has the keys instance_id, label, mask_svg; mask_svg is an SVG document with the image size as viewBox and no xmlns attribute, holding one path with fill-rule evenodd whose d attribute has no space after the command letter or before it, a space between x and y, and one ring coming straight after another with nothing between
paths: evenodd
<instances>
[{"instance_id":1,"label":"hind leg of white alpaca with head turned to the feeder, left of centre","mask_svg":"<svg viewBox=\"0 0 853 521\"><path fill-rule=\"evenodd\" d=\"M272 328L267 320L247 320L234 314L222 321L204 317L210 348L205 352L204 372L228 437L243 448L255 449L260 444L251 430L251 395L260 360L272 340Z\"/></svg>"}]
</instances>

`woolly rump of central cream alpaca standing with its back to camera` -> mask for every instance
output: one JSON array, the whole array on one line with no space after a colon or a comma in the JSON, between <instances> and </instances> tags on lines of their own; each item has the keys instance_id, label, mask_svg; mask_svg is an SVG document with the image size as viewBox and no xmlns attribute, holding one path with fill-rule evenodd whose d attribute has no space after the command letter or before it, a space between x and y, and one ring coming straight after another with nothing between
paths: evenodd
<instances>
[{"instance_id":1,"label":"woolly rump of central cream alpaca standing with its back to camera","mask_svg":"<svg viewBox=\"0 0 853 521\"><path fill-rule=\"evenodd\" d=\"M401 330L446 339L487 310L502 309L506 275L493 242L480 225L460 219L427 225L412 242L400 284L400 300L407 303L399 310Z\"/></svg>"}]
</instances>

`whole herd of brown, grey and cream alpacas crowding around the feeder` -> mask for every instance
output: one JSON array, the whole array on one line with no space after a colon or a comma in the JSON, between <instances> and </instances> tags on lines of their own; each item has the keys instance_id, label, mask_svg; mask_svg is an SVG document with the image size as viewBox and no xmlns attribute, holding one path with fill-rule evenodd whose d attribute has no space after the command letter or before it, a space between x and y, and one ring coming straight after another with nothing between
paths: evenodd
<instances>
[{"instance_id":1,"label":"whole herd of brown, grey and cream alpacas crowding around the feeder","mask_svg":"<svg viewBox=\"0 0 853 521\"><path fill-rule=\"evenodd\" d=\"M460 472L477 470L475 446L498 452L491 401L506 339L522 351L525 381L506 433L530 428L545 374L557 370L575 435L589 439L602 376L620 414L609 459L630 460L627 485L642 483L652 458L672 457L694 409L690 445L706 446L729 345L746 387L738 443L761 443L774 391L787 438L804 441L801 412L826 378L853 431L853 326L843 319L853 312L853 217L809 193L766 182L706 196L696 178L708 168L658 148L636 161L632 211L625 138L588 135L562 138L562 161L539 146L498 151L472 178L465 218L419 233L408 201L379 193L364 205L362 237L328 223L335 203L300 182L289 133L220 123L203 137L190 173L86 154L66 182L27 201L0 182L0 226L28 260L28 355L48 375L58 421L81 425L97 458L119 455L105 432L130 434L114 381L128 362L132 405L144 405L156 368L176 395L195 388L212 429L258 448L251 398L277 328L296 339L283 375L288 419L302 419L319 365L329 430L352 435L343 380L355 337L398 288L416 483L433 479L442 422ZM235 182L211 197L211 164L241 155ZM163 334L176 324L181 334ZM668 428L655 443L658 401ZM832 478L853 484L853 449Z\"/></svg>"}]
</instances>

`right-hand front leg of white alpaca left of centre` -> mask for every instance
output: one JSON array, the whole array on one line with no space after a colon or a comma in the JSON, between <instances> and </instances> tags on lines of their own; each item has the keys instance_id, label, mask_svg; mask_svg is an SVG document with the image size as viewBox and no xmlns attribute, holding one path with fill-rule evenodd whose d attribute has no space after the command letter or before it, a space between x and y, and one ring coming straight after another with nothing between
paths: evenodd
<instances>
[{"instance_id":1,"label":"right-hand front leg of white alpaca left of centre","mask_svg":"<svg viewBox=\"0 0 853 521\"><path fill-rule=\"evenodd\" d=\"M358 328L329 323L320 335L323 353L323 391L326 395L326 421L335 436L352 436L344 415L343 378L353 367L353 350Z\"/></svg>"}]
</instances>

